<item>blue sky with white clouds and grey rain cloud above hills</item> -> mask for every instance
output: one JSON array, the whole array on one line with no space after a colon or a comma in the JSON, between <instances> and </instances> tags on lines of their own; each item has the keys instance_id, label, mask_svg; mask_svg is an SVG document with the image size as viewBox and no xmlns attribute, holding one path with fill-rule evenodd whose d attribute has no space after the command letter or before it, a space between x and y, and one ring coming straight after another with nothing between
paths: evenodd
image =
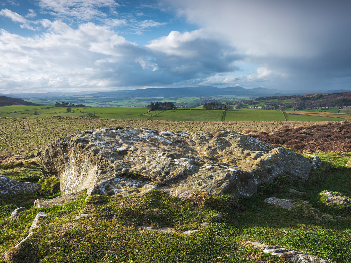
<instances>
[{"instance_id":1,"label":"blue sky with white clouds and grey rain cloud above hills","mask_svg":"<svg viewBox=\"0 0 351 263\"><path fill-rule=\"evenodd\" d=\"M349 0L0 0L0 93L351 90Z\"/></svg>"}]
</instances>

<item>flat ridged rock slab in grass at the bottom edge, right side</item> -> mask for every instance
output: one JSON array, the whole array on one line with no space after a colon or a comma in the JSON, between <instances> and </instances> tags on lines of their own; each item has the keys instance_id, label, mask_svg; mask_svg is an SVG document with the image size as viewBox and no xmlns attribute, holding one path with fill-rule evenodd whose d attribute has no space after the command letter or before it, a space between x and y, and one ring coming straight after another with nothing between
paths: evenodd
<instances>
[{"instance_id":1,"label":"flat ridged rock slab in grass at the bottom edge, right side","mask_svg":"<svg viewBox=\"0 0 351 263\"><path fill-rule=\"evenodd\" d=\"M327 261L323 258L310 256L302 252L294 251L287 248L280 248L273 245L265 245L258 242L246 242L246 243L252 245L255 248L262 249L262 251L265 253L272 254L273 256L282 257L296 263L330 263L330 261Z\"/></svg>"}]
</instances>

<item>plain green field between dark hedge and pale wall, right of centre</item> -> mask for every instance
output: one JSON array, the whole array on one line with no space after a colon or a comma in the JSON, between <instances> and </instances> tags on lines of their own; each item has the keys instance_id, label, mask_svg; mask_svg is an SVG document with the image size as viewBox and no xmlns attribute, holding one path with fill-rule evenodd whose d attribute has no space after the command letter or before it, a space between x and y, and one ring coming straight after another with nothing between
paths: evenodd
<instances>
[{"instance_id":1,"label":"plain green field between dark hedge and pale wall, right of centre","mask_svg":"<svg viewBox=\"0 0 351 263\"><path fill-rule=\"evenodd\" d=\"M226 111L225 121L284 121L279 110L230 109Z\"/></svg>"}]
</instances>

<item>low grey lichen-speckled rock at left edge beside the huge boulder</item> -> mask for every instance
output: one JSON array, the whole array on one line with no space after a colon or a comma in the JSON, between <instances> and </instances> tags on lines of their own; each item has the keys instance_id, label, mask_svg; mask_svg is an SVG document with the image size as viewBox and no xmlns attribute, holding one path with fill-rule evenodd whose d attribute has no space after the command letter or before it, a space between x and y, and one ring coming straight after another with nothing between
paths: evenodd
<instances>
[{"instance_id":1,"label":"low grey lichen-speckled rock at left edge beside the huge boulder","mask_svg":"<svg viewBox=\"0 0 351 263\"><path fill-rule=\"evenodd\" d=\"M19 182L7 176L0 176L0 195L34 193L41 189L41 184Z\"/></svg>"}]
</instances>

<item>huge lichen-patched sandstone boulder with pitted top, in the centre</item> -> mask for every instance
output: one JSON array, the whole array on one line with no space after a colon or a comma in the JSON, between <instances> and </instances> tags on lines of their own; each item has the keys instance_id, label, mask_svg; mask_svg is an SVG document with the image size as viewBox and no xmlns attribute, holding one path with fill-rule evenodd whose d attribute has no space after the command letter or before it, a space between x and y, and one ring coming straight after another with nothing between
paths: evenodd
<instances>
[{"instance_id":1,"label":"huge lichen-patched sandstone boulder with pitted top, in the centre","mask_svg":"<svg viewBox=\"0 0 351 263\"><path fill-rule=\"evenodd\" d=\"M51 142L39 160L43 173L60 178L61 193L89 195L231 192L249 197L279 175L308 179L302 155L235 131L174 132L109 128L86 130Z\"/></svg>"}]
</instances>

